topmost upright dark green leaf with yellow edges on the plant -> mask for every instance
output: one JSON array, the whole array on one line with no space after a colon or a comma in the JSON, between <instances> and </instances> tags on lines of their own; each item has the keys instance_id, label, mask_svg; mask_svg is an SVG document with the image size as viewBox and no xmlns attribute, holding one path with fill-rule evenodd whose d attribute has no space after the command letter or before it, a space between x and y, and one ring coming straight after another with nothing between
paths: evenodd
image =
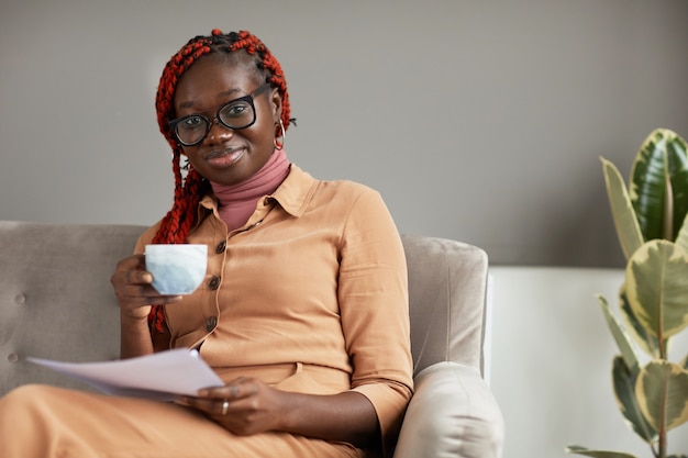
<instances>
[{"instance_id":1,"label":"topmost upright dark green leaf with yellow edges on the plant","mask_svg":"<svg viewBox=\"0 0 688 458\"><path fill-rule=\"evenodd\" d=\"M670 130L653 131L633 163L629 193L644 239L674 242L688 213L686 142Z\"/></svg>"}]
</instances>

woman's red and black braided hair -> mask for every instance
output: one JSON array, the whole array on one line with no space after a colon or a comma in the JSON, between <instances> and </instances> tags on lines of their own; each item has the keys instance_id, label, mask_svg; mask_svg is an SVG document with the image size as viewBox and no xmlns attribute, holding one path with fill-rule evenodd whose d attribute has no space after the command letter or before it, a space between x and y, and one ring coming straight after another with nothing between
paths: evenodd
<instances>
[{"instance_id":1,"label":"woman's red and black braided hair","mask_svg":"<svg viewBox=\"0 0 688 458\"><path fill-rule=\"evenodd\" d=\"M158 232L153 237L152 243L154 244L186 243L189 232L197 220L198 203L209 189L207 180L196 169L190 165L181 166L182 148L177 143L177 138L169 127L169 121L176 116L174 100L177 82L199 58L209 54L231 54L240 49L244 49L249 56L254 57L257 70L265 76L265 82L269 82L277 88L281 97L281 121L284 127L287 129L291 122L295 122L293 119L289 118L291 111L289 93L281 66L258 37L247 31L223 34L215 29L209 36L199 35L189 40L165 66L155 98L158 126L173 149L175 200L171 210L167 212ZM276 137L281 135L280 126L275 127L275 135ZM181 175L182 168L188 170L186 178ZM155 329L163 332L164 322L163 306L153 305L148 315L148 323Z\"/></svg>"}]
</instances>

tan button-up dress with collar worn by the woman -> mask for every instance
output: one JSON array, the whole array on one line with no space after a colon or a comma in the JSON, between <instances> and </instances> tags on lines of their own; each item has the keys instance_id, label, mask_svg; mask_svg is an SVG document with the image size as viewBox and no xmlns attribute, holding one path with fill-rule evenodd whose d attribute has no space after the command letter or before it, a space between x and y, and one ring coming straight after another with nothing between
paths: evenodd
<instances>
[{"instance_id":1,"label":"tan button-up dress with collar worn by the woman","mask_svg":"<svg viewBox=\"0 0 688 458\"><path fill-rule=\"evenodd\" d=\"M188 242L208 245L207 278L193 294L166 306L171 346L199 348L225 381L249 376L287 391L358 391L374 405L389 450L412 393L412 361L406 259L379 193L351 181L315 180L292 165L244 227L228 234L212 197L199 212ZM156 231L141 237L138 253ZM18 398L13 402L21 404ZM363 456L347 444L281 433L233 436L174 404L43 388L29 388L23 398L40 398L34 409L88 405L74 415L75 427L79 440L100 444L92 449L102 456L120 456L108 455L110 447L142 457ZM41 415L26 415L35 429ZM156 440L171 444L151 454Z\"/></svg>"}]
</instances>

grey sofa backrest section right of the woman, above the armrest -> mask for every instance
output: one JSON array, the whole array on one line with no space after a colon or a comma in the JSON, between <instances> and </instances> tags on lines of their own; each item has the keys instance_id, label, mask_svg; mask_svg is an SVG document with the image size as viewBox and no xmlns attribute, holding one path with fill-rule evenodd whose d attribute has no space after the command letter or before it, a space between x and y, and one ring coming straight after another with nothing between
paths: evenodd
<instances>
[{"instance_id":1,"label":"grey sofa backrest section right of the woman, above the armrest","mask_svg":"<svg viewBox=\"0 0 688 458\"><path fill-rule=\"evenodd\" d=\"M413 373L439 361L482 372L488 257L473 245L404 234Z\"/></svg>"}]
</instances>

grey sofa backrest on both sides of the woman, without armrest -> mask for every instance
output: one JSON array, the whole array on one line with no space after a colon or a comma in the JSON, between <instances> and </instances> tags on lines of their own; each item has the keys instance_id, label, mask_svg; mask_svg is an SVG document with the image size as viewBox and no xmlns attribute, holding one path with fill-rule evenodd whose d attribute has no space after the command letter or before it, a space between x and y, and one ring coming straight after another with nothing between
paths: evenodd
<instances>
[{"instance_id":1,"label":"grey sofa backrest on both sides of the woman, without armrest","mask_svg":"<svg viewBox=\"0 0 688 458\"><path fill-rule=\"evenodd\" d=\"M119 356L110 277L140 225L0 222L0 395L29 382L89 389L26 356ZM442 238L402 235L409 266L414 373L437 361L481 368L487 256Z\"/></svg>"}]
</instances>

